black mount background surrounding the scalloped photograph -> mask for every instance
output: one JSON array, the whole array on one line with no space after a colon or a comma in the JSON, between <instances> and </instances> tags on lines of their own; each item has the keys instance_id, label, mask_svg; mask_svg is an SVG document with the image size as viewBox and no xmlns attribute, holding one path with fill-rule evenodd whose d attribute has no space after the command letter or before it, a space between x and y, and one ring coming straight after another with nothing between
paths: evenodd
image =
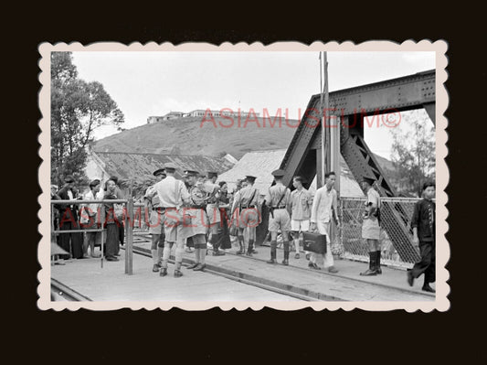
<instances>
[{"instance_id":1,"label":"black mount background surrounding the scalloped photograph","mask_svg":"<svg viewBox=\"0 0 487 365\"><path fill-rule=\"evenodd\" d=\"M421 16L421 11L415 15ZM426 359L430 354L431 358L439 360L438 352L450 351L451 338L457 338L460 334L461 324L467 325L470 322L466 315L478 306L478 295L482 290L472 289L471 286L475 278L482 277L479 269L483 265L479 263L477 267L469 267L469 263L471 253L482 245L484 239L482 234L476 234L478 238L473 239L475 232L467 230L468 227L475 226L472 223L467 225L465 216L474 213L471 212L471 206L465 205L467 199L463 194L466 193L466 189L473 189L465 185L465 177L471 184L471 166L476 165L467 164L466 161L471 161L471 156L478 156L479 153L483 154L480 161L484 161L485 153L479 148L474 155L465 148L466 145L472 145L471 136L476 133L471 133L465 127L464 119L465 113L469 113L466 107L469 101L462 100L461 96L465 96L466 91L471 91L471 80L465 80L466 78L461 75L465 70L479 70L476 79L478 81L475 83L484 85L485 70L481 66L472 67L470 63L475 60L479 62L480 59L462 57L471 54L469 46L475 45L473 42L465 42L461 35L453 37L456 31L455 19L440 17L438 21L433 21L433 16L429 16L428 21L423 24L420 21L415 22L414 27L386 27L388 16L377 17L375 13L373 17L366 17L361 13L355 24L365 27L350 27L354 24L352 19L347 17L347 21L344 22L343 17L338 17L337 22L327 23L327 27L309 27L310 23L303 27L292 22L283 31L273 29L261 33L253 30L175 30L153 26L163 23L164 13L161 13L159 23L143 18L143 25L138 26L132 19L130 25L127 25L128 22L126 25L108 25L106 21L110 20L111 16L107 16L104 21L99 18L94 21L86 17L72 20L69 16L59 16L34 21L29 25L29 28L33 29L30 32L9 35L16 39L16 48L11 57L17 70L16 84L20 85L20 88L15 89L20 92L16 97L16 113L11 121L15 121L12 123L15 125L16 135L21 136L21 141L24 141L12 147L22 156L15 158L17 168L21 166L21 171L16 174L15 189L22 191L22 198L25 200L20 205L24 212L22 216L17 215L22 217L19 220L20 224L9 227L22 232L22 242L18 242L19 237L16 237L16 244L8 245L11 248L16 247L17 250L13 252L19 252L20 249L20 255L8 254L9 260L14 263L9 270L10 273L14 273L16 281L14 291L8 292L8 295L14 297L14 300L9 302L14 305L12 312L15 312L17 321L7 333L13 343L29 344L29 350L20 345L18 349L15 348L17 359L23 358L28 352L36 356L36 351L37 359L38 355L41 355L46 360L69 360L71 357L77 360L129 357L142 360L145 357L154 357L154 360L164 362L163 354L168 351L169 356L179 353L180 363L189 362L186 359L188 356L207 360L225 358L234 362L253 359L252 362L260 362L266 355L270 356L273 362L278 358L323 361L328 356L333 358L335 355L348 362L355 354L358 356L357 360L379 362L386 359L411 361L423 351L426 352ZM414 20L413 16L407 15L406 18L409 21ZM361 23L358 23L359 21ZM249 27L249 23L247 24ZM480 29L478 31L480 32ZM41 162L37 155L37 136L40 133L37 123L41 116L37 108L37 92L40 88L37 81L37 47L40 43L79 41L88 45L96 41L119 41L125 44L132 41L140 41L143 44L148 41L171 41L179 44L206 41L219 44L224 41L259 41L270 44L276 41L298 40L311 44L315 40L342 42L352 39L356 44L373 39L389 39L401 43L406 39L423 38L445 39L449 43L449 80L446 87L450 94L450 105L446 116L450 121L447 130L450 135L450 156L447 158L450 168L450 184L447 188L450 197L447 204L450 211L450 231L447 233L447 240L450 242L451 259L447 268L451 275L451 306L448 312L408 314L402 310L392 313L339 310L320 313L312 309L303 309L287 313L265 309L259 312L248 310L243 313L236 310L221 312L219 309L212 309L207 312L185 313L173 309L167 313L160 310L132 312L130 309L113 312L55 312L37 309L37 271L40 268L37 262L37 243L40 241L37 231L37 196L40 194L37 168ZM484 62L479 62L482 63ZM454 115L455 111L457 113ZM19 117L18 113L22 116ZM459 123L462 118L462 123ZM482 117L479 120L482 120ZM477 166L482 169L482 165ZM485 196L484 186L482 180L478 191L482 198ZM477 201L476 205L482 204L480 199L474 200ZM468 251L465 247L468 247ZM461 277L467 274L466 270L469 272L468 279ZM168 350L169 343L175 347Z\"/></svg>"}]
</instances>

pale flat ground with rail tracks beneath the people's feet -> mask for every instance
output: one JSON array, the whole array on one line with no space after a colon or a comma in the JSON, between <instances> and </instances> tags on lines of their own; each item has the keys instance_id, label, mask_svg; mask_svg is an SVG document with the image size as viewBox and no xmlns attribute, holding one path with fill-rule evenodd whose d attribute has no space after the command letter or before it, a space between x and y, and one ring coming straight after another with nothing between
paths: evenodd
<instances>
[{"instance_id":1,"label":"pale flat ground with rail tracks beneath the people's feet","mask_svg":"<svg viewBox=\"0 0 487 365\"><path fill-rule=\"evenodd\" d=\"M150 252L149 242L135 242L134 249ZM122 250L121 261L105 262L101 269L100 260L73 260L65 266L52 266L52 278L68 285L81 295L95 301L268 301L298 300L287 295L279 295L268 290L234 280L276 288L296 295L304 295L311 300L323 301L433 301L434 295L420 290L418 280L410 288L406 282L406 272L383 267L383 274L373 277L359 276L367 264L348 260L338 260L335 267L338 274L308 269L308 262L294 259L291 254L290 266L265 263L270 257L270 248L260 246L258 253L249 258L234 254L231 249L224 256L206 256L207 272L193 272L183 269L185 276L173 277L174 265L169 266L169 275L162 278L152 273L152 260L133 255L133 275L124 273ZM184 263L192 263L193 253L185 252ZM278 251L282 260L282 251ZM227 275L228 280L211 274ZM277 295L277 296L276 296Z\"/></svg>"}]
</instances>

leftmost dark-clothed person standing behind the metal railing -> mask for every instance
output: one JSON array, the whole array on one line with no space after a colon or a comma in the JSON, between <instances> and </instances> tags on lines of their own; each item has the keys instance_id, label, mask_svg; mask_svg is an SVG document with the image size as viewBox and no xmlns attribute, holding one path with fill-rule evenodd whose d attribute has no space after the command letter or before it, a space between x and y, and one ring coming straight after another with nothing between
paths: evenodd
<instances>
[{"instance_id":1,"label":"leftmost dark-clothed person standing behind the metal railing","mask_svg":"<svg viewBox=\"0 0 487 365\"><path fill-rule=\"evenodd\" d=\"M67 176L64 179L65 185L62 187L57 196L61 200L77 199L77 193L74 189L74 178ZM71 231L79 230L78 206L75 204L59 204L59 230ZM70 252L74 259L83 258L83 240L80 232L60 233L59 246L66 252ZM69 259L69 255L61 255L63 259Z\"/></svg>"}]
</instances>

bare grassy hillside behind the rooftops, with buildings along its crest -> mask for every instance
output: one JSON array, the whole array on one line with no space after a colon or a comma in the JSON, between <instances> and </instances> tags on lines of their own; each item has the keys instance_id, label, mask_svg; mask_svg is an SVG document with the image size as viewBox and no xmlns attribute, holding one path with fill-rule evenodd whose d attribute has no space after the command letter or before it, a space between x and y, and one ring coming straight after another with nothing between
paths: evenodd
<instances>
[{"instance_id":1,"label":"bare grassy hillside behind the rooftops, with buildings along its crest","mask_svg":"<svg viewBox=\"0 0 487 365\"><path fill-rule=\"evenodd\" d=\"M96 152L138 152L151 154L180 154L220 156L228 153L241 158L250 151L287 148L299 121L279 119L272 127L269 118L257 122L234 118L231 122L215 118L215 123L202 123L201 117L179 118L169 121L144 124L119 134L96 141ZM264 123L265 122L265 123Z\"/></svg>"}]
</instances>

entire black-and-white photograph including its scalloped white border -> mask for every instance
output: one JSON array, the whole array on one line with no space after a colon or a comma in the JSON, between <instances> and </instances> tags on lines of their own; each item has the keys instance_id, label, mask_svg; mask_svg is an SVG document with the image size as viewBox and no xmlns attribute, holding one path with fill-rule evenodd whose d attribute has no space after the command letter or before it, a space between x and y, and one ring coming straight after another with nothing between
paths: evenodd
<instances>
[{"instance_id":1,"label":"entire black-and-white photograph including its scalloped white border","mask_svg":"<svg viewBox=\"0 0 487 365\"><path fill-rule=\"evenodd\" d=\"M446 52L41 44L37 306L447 310Z\"/></svg>"}]
</instances>

